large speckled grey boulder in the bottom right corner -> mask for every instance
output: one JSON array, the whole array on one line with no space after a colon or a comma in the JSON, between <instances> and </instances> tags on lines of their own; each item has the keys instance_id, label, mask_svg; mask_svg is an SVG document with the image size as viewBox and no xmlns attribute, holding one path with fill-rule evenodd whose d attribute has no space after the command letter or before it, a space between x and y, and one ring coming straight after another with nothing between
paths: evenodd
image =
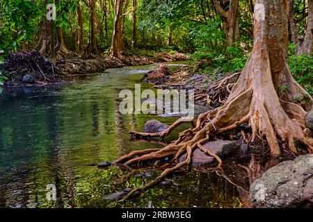
<instances>
[{"instance_id":1,"label":"large speckled grey boulder in the bottom right corner","mask_svg":"<svg viewBox=\"0 0 313 222\"><path fill-rule=\"evenodd\" d=\"M313 154L268 169L250 186L255 207L313 206Z\"/></svg>"}]
</instances>

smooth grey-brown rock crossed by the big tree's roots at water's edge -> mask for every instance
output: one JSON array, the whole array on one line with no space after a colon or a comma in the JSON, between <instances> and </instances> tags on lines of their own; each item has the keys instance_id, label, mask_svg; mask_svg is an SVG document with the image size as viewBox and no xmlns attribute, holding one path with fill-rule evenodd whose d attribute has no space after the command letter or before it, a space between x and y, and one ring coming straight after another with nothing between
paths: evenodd
<instances>
[{"instance_id":1,"label":"smooth grey-brown rock crossed by the big tree's roots at water's edge","mask_svg":"<svg viewBox=\"0 0 313 222\"><path fill-rule=\"evenodd\" d=\"M223 158L231 155L232 153L236 153L240 149L240 144L234 141L228 140L216 140L203 144L204 148L209 149L218 155L222 160ZM185 160L186 155L182 155L179 157L179 162ZM192 166L193 167L209 167L212 163L214 163L215 158L211 157L202 151L199 148L196 148L193 151L192 155Z\"/></svg>"}]
</instances>

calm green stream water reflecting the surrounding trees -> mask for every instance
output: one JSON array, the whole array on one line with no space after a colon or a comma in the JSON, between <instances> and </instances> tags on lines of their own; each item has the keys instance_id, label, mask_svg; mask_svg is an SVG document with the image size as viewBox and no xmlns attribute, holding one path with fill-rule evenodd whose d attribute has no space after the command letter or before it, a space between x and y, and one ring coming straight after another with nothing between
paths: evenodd
<instances>
[{"instance_id":1,"label":"calm green stream water reflecting the surrounding trees","mask_svg":"<svg viewBox=\"0 0 313 222\"><path fill-rule=\"evenodd\" d=\"M118 185L125 170L97 169L94 164L161 146L129 139L130 130L142 130L155 117L118 112L120 90L134 89L143 73L154 68L110 69L75 76L54 89L24 88L2 96L0 207L240 207L236 187L225 178L195 171L179 173L172 185L154 187L123 203L104 200L106 194L151 180L135 174ZM157 173L152 171L152 176ZM56 186L55 201L47 199L49 184Z\"/></svg>"}]
</instances>

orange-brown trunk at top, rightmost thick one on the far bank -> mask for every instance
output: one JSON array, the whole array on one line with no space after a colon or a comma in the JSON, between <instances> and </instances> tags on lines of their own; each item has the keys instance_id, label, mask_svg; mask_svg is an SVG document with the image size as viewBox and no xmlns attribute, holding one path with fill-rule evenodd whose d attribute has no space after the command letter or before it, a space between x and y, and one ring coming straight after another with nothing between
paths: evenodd
<instances>
[{"instance_id":1,"label":"orange-brown trunk at top, rightmost thick one on the far bank","mask_svg":"<svg viewBox=\"0 0 313 222\"><path fill-rule=\"evenodd\" d=\"M115 21L111 44L111 56L121 58L123 53L122 41L122 0L115 0Z\"/></svg>"}]
</instances>

